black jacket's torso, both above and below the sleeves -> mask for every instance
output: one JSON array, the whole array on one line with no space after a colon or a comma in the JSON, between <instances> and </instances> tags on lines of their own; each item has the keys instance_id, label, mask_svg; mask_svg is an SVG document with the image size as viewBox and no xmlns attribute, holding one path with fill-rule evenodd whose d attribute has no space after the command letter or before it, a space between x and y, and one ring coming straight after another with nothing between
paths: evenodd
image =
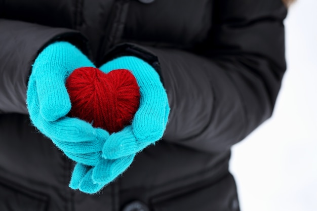
<instances>
[{"instance_id":1,"label":"black jacket's torso, both above and below the sleeves","mask_svg":"<svg viewBox=\"0 0 317 211\"><path fill-rule=\"evenodd\" d=\"M146 1L3 1L0 13L8 19L81 31L97 66L122 42L191 50L207 39L213 1L142 2ZM0 115L0 137L0 192L15 190L13 195L23 195L37 210L237 209L229 151L209 154L162 140L144 149L122 176L91 196L68 188L73 164L36 132L27 116Z\"/></svg>"}]
</instances>

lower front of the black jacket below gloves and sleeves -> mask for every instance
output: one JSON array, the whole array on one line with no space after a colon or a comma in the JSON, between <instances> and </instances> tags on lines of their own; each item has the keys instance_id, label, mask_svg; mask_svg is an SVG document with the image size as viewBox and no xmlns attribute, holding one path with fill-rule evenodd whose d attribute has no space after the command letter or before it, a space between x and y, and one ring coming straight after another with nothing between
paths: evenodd
<instances>
[{"instance_id":1,"label":"lower front of the black jacket below gloves and sleeves","mask_svg":"<svg viewBox=\"0 0 317 211\"><path fill-rule=\"evenodd\" d=\"M1 192L12 192L12 203L22 198L24 211L124 210L139 201L150 210L235 210L230 209L237 200L228 173L230 152L203 153L161 140L100 193L87 195L68 188L73 163L28 116L0 115L0 137L0 198Z\"/></svg>"}]
</instances>

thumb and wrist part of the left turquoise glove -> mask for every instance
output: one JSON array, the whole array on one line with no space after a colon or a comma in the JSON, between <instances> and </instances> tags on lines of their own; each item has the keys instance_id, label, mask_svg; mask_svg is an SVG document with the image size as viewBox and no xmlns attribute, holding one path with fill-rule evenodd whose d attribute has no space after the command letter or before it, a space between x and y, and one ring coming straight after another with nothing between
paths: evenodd
<instances>
[{"instance_id":1,"label":"thumb and wrist part of the left turquoise glove","mask_svg":"<svg viewBox=\"0 0 317 211\"><path fill-rule=\"evenodd\" d=\"M94 64L75 46L64 41L49 45L38 55L31 74L36 81L39 112L43 118L54 121L69 112L71 104L65 80L74 69L85 66Z\"/></svg>"}]
</instances>

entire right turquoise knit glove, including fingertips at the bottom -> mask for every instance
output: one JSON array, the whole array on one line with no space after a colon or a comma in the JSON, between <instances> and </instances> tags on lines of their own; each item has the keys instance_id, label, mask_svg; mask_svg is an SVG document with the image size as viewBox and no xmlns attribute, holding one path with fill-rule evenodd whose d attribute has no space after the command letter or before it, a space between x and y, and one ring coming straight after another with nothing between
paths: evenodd
<instances>
[{"instance_id":1,"label":"entire right turquoise knit glove, including fingertips at the bottom","mask_svg":"<svg viewBox=\"0 0 317 211\"><path fill-rule=\"evenodd\" d=\"M102 159L95 166L77 163L69 186L86 193L95 193L122 174L136 153L160 140L166 129L169 104L167 93L157 72L137 57L120 57L100 67L108 73L129 69L140 87L140 106L132 124L105 140Z\"/></svg>"}]
</instances>

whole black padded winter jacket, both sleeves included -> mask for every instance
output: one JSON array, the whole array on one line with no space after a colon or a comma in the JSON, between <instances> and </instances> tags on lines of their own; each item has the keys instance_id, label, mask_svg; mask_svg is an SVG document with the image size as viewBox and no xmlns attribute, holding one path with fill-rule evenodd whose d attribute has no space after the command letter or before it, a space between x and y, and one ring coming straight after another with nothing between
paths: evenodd
<instances>
[{"instance_id":1,"label":"whole black padded winter jacket, both sleeves included","mask_svg":"<svg viewBox=\"0 0 317 211\"><path fill-rule=\"evenodd\" d=\"M286 14L280 0L0 0L0 210L239 210L230 147L272 114ZM28 118L31 64L54 40L96 66L138 56L168 92L163 140L96 195L68 188L73 163Z\"/></svg>"}]
</instances>

